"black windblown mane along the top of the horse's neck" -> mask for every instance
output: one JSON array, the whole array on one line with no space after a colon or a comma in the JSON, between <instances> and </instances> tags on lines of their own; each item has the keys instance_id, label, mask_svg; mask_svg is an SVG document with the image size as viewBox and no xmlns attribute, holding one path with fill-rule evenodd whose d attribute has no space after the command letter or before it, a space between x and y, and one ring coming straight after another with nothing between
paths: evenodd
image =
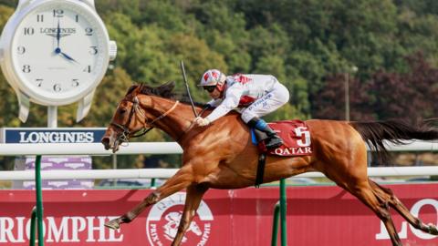
<instances>
[{"instance_id":1,"label":"black windblown mane along the top of the horse's neck","mask_svg":"<svg viewBox=\"0 0 438 246\"><path fill-rule=\"evenodd\" d=\"M173 93L173 88L175 87L175 82L173 82L173 81L164 83L158 87L150 87L144 83L135 84L135 85L132 85L128 89L128 92L126 93L126 95L129 95L138 87L140 87L139 93L143 94L143 95L158 96L158 97L169 98L169 99L173 99L173 100L178 99L180 102L182 102L184 104L188 104L188 105L192 104L190 101L190 97L188 97L188 95L177 95L177 94ZM194 106L201 107L201 108L206 106L206 104L200 103L200 102L193 102L193 104L194 104Z\"/></svg>"}]
</instances>

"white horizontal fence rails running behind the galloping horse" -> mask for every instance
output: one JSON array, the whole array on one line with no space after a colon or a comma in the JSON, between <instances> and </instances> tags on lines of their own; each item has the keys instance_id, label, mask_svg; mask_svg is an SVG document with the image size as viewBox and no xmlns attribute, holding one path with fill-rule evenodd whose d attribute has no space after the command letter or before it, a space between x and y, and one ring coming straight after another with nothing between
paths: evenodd
<instances>
[{"instance_id":1,"label":"white horizontal fence rails running behind the galloping horse","mask_svg":"<svg viewBox=\"0 0 438 246\"><path fill-rule=\"evenodd\" d=\"M390 151L438 151L438 142L416 141L404 146L388 145ZM144 142L130 143L121 146L118 155L132 154L181 154L183 149L175 142ZM99 143L87 144L0 144L0 156L22 155L111 155L110 150L103 149ZM49 170L41 171L42 179L167 179L178 169L93 169L93 170ZM399 168L369 168L371 177L389 176L426 176L438 175L435 167L399 167ZM30 180L35 172L0 171L0 180ZM324 177L319 172L308 172L297 177Z\"/></svg>"}]
</instances>

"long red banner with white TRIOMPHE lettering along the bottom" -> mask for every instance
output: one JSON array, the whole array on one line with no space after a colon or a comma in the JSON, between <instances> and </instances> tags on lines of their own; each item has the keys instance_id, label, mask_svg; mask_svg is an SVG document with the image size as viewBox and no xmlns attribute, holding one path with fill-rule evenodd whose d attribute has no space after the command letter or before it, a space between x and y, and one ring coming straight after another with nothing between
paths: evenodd
<instances>
[{"instance_id":1,"label":"long red banner with white TRIOMPHE lettering along the bottom","mask_svg":"<svg viewBox=\"0 0 438 246\"><path fill-rule=\"evenodd\" d=\"M391 185L412 214L437 223L438 184ZM0 245L27 245L35 191L0 190ZM170 245L181 220L185 193L145 210L120 230L105 221L119 217L151 190L45 190L45 245ZM278 189L209 190L184 235L183 245L270 245ZM395 212L403 245L438 245ZM288 245L391 245L381 221L335 186L287 189Z\"/></svg>"}]
</instances>

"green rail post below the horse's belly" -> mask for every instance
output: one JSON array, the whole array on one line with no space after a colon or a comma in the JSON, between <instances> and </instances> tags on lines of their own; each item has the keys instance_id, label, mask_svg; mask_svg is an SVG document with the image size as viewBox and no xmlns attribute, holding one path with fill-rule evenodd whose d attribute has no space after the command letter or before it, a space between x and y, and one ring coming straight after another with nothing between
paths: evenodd
<instances>
[{"instance_id":1,"label":"green rail post below the horse's belly","mask_svg":"<svg viewBox=\"0 0 438 246\"><path fill-rule=\"evenodd\" d=\"M285 179L280 179L280 200L276 202L276 206L274 208L274 223L272 226L271 246L276 246L276 238L278 235L278 218L280 218L281 221L281 246L287 246L286 202L286 181Z\"/></svg>"}]
</instances>

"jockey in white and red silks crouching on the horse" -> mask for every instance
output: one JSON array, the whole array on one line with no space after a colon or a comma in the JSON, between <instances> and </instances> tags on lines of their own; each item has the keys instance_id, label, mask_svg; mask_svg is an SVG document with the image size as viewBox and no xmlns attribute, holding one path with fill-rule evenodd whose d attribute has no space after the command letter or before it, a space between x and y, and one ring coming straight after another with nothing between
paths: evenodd
<instances>
[{"instance_id":1,"label":"jockey in white and red silks crouching on the horse","mask_svg":"<svg viewBox=\"0 0 438 246\"><path fill-rule=\"evenodd\" d=\"M195 126L207 126L229 111L237 109L249 127L266 133L266 149L275 149L283 144L276 132L260 118L289 100L287 87L280 84L276 77L244 74L226 77L221 71L210 69L203 74L198 86L203 87L213 98L207 104L215 108L206 118L195 118Z\"/></svg>"}]
</instances>

